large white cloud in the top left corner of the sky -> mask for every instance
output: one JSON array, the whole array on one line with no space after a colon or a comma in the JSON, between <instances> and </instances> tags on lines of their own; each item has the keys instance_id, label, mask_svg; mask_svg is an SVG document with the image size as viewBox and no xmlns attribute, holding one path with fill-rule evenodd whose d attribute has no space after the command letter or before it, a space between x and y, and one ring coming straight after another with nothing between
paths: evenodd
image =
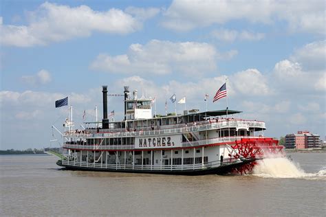
<instances>
[{"instance_id":1,"label":"large white cloud in the top left corner of the sky","mask_svg":"<svg viewBox=\"0 0 326 217\"><path fill-rule=\"evenodd\" d=\"M1 43L31 47L75 37L87 37L93 32L129 34L140 30L142 22L158 12L155 8L129 8L126 12L111 8L100 12L87 5L73 8L45 2L36 11L29 13L28 25L3 25L1 17Z\"/></svg>"}]
</instances>

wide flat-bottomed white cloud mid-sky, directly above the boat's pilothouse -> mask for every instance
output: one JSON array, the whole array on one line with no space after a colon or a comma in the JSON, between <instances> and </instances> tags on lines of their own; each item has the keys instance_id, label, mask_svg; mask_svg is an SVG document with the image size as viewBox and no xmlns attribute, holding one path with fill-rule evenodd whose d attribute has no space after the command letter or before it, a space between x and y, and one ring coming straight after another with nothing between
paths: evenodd
<instances>
[{"instance_id":1,"label":"wide flat-bottomed white cloud mid-sky, directly above the boat's pilothouse","mask_svg":"<svg viewBox=\"0 0 326 217\"><path fill-rule=\"evenodd\" d=\"M228 57L234 55L232 52ZM90 67L111 73L202 74L216 71L216 59L217 51L208 43L152 40L145 45L130 45L127 54L100 54Z\"/></svg>"}]
</instances>

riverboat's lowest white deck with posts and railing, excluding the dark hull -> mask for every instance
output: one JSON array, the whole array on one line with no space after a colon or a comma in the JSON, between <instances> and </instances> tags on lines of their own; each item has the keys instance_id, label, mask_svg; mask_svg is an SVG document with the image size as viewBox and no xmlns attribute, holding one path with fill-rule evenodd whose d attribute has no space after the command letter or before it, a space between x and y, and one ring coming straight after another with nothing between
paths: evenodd
<instances>
[{"instance_id":1,"label":"riverboat's lowest white deck with posts and railing, excluding the dark hull","mask_svg":"<svg viewBox=\"0 0 326 217\"><path fill-rule=\"evenodd\" d=\"M204 165L204 163L220 161L232 156L232 148L223 146L202 146L200 148L180 148L171 150L67 150L68 163L80 165L93 165L94 167L105 164L126 166L147 166L151 168L173 165Z\"/></svg>"}]
</instances>

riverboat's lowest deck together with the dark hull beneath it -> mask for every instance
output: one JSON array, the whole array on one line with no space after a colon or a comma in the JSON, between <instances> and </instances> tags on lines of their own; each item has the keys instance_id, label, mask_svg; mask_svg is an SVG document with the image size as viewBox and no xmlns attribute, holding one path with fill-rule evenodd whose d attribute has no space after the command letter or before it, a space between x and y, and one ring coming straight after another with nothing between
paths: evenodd
<instances>
[{"instance_id":1,"label":"riverboat's lowest deck together with the dark hull beneath it","mask_svg":"<svg viewBox=\"0 0 326 217\"><path fill-rule=\"evenodd\" d=\"M174 173L199 171L217 173L245 159L230 155L228 145L171 150L68 150L61 165L78 170ZM247 159L248 160L248 159Z\"/></svg>"}]
</instances>

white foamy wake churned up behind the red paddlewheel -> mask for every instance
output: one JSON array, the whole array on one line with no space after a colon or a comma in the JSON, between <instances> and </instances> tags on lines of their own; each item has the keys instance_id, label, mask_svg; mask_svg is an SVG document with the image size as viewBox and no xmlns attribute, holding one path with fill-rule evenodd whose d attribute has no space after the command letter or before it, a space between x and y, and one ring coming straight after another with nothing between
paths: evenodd
<instances>
[{"instance_id":1,"label":"white foamy wake churned up behind the red paddlewheel","mask_svg":"<svg viewBox=\"0 0 326 217\"><path fill-rule=\"evenodd\" d=\"M252 174L264 178L326 178L326 168L317 173L306 173L300 166L285 157L266 158L257 161Z\"/></svg>"}]
</instances>

